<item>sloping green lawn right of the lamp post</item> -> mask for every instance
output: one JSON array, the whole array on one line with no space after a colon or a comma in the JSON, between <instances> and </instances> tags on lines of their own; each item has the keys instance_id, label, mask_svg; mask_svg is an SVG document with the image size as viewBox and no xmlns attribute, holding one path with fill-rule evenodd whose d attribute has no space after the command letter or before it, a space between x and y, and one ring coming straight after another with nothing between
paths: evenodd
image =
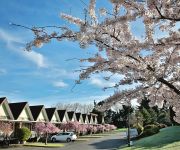
<instances>
[{"instance_id":1,"label":"sloping green lawn right of the lamp post","mask_svg":"<svg viewBox=\"0 0 180 150\"><path fill-rule=\"evenodd\" d=\"M161 129L158 134L134 142L131 148L122 150L180 150L180 126Z\"/></svg>"}]
</instances>

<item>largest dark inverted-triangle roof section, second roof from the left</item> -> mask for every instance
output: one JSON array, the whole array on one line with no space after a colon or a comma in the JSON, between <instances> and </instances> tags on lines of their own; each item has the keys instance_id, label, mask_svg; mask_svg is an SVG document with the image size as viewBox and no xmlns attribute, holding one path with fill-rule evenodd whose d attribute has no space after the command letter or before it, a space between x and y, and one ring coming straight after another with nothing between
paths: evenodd
<instances>
[{"instance_id":1,"label":"largest dark inverted-triangle roof section, second roof from the left","mask_svg":"<svg viewBox=\"0 0 180 150\"><path fill-rule=\"evenodd\" d=\"M26 104L27 102L9 103L9 107L15 120L18 119Z\"/></svg>"}]
</instances>

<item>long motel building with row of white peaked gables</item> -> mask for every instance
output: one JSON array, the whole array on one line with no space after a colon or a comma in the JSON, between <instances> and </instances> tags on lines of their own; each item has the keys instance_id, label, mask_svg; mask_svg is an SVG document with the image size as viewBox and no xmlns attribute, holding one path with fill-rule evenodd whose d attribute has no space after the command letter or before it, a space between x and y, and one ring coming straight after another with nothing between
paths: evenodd
<instances>
[{"instance_id":1,"label":"long motel building with row of white peaked gables","mask_svg":"<svg viewBox=\"0 0 180 150\"><path fill-rule=\"evenodd\" d=\"M98 125L96 114L81 114L67 110L58 110L57 108L45 108L44 105L29 106L28 102L9 103L6 97L0 98L0 121L11 122L13 134L16 134L18 128L27 127L34 131L37 122L51 122L57 127L69 121L78 121L80 124ZM0 135L2 132L0 132Z\"/></svg>"}]
</instances>

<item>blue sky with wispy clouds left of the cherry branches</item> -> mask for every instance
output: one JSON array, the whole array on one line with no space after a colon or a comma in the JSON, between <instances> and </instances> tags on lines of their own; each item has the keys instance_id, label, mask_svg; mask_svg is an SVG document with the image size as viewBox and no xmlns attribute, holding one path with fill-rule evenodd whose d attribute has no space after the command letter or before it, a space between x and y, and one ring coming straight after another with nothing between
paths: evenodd
<instances>
[{"instance_id":1,"label":"blue sky with wispy clouds left of the cherry branches","mask_svg":"<svg viewBox=\"0 0 180 150\"><path fill-rule=\"evenodd\" d=\"M87 0L84 0L88 4ZM104 0L98 1L102 7L110 7ZM109 82L101 75L71 88L78 79L81 65L71 58L86 58L96 52L95 47L81 50L78 43L52 41L40 49L23 51L25 43L32 40L32 33L26 29L10 26L17 23L26 26L66 25L59 14L71 13L81 17L85 5L80 0L1 0L0 1L0 96L10 102L28 101L30 105L51 106L57 102L93 103L113 94L113 90L103 91L104 86L112 86L119 76Z\"/></svg>"}]
</instances>

